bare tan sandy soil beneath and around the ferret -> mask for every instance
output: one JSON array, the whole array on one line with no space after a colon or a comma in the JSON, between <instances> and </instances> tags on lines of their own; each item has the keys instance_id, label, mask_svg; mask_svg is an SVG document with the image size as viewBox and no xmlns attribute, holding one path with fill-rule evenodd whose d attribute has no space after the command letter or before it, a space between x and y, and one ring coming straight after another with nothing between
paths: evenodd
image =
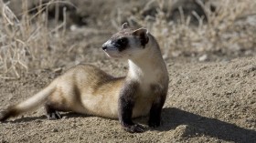
<instances>
[{"instance_id":1,"label":"bare tan sandy soil beneath and around the ferret","mask_svg":"<svg viewBox=\"0 0 256 143\"><path fill-rule=\"evenodd\" d=\"M106 11L99 13L96 14L101 19L107 20L108 16L102 15ZM94 20L88 26L68 32L67 39L60 39L61 46L52 46L53 52L42 55L40 62L44 68L31 68L16 80L1 79L0 110L34 95L53 78L80 63L99 66L115 77L125 75L126 62L109 59L101 50L101 44L115 31L106 26L110 21L97 21L96 14L91 14ZM91 26L94 23L97 26ZM44 61L44 58L51 60ZM148 117L135 119L146 128L141 134L127 133L117 120L108 118L62 113L63 118L48 120L44 108L40 107L0 123L0 143L256 143L256 57L225 55L208 62L192 58L165 59L170 82L159 128L148 128ZM37 61L30 66L34 65Z\"/></svg>"}]
</instances>

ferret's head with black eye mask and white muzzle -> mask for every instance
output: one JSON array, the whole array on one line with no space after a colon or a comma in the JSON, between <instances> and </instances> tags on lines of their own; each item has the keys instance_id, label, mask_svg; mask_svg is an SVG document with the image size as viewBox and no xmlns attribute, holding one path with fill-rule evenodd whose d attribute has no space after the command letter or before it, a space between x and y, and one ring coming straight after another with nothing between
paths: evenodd
<instances>
[{"instance_id":1,"label":"ferret's head with black eye mask and white muzzle","mask_svg":"<svg viewBox=\"0 0 256 143\"><path fill-rule=\"evenodd\" d=\"M121 31L102 45L104 52L113 58L133 59L142 56L149 42L145 28L132 29L124 23Z\"/></svg>"}]
</instances>

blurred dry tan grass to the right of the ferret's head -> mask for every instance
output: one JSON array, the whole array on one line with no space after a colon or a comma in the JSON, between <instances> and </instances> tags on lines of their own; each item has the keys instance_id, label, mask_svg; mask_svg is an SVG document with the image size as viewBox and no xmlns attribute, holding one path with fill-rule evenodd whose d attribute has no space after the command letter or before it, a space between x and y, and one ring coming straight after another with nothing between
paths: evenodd
<instances>
[{"instance_id":1,"label":"blurred dry tan grass to the right of the ferret's head","mask_svg":"<svg viewBox=\"0 0 256 143\"><path fill-rule=\"evenodd\" d=\"M203 19L194 13L199 21L198 26L189 26L190 17L186 19L186 16L182 15L182 9L180 24L167 20L166 15L169 14L163 11L164 5L172 5L174 0L153 1L159 5L155 17L142 19L132 16L132 19L150 29L163 48L165 57L187 55L187 53L193 56L197 53L219 50L252 49L255 46L256 36L253 34L255 30L253 32L243 29L244 26L239 26L238 21L246 18L247 15L256 14L256 1L216 0L214 1L216 11L211 12L209 3L213 1L203 4L198 0L197 3L203 7L208 18L208 24L204 25ZM256 29L256 26L253 28Z\"/></svg>"}]
</instances>

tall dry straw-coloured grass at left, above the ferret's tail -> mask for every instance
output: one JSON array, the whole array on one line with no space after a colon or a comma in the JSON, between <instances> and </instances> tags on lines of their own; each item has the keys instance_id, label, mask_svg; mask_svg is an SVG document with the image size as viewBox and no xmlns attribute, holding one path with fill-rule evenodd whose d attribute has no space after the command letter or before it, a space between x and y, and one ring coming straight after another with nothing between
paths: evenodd
<instances>
[{"instance_id":1,"label":"tall dry straw-coloured grass at left, above the ferret's tail","mask_svg":"<svg viewBox=\"0 0 256 143\"><path fill-rule=\"evenodd\" d=\"M51 39L65 33L65 20L48 27L48 5L53 3L59 2L41 3L37 14L29 15L27 0L22 1L23 14L18 19L8 4L0 2L0 78L20 77L22 70L28 70L30 66L40 67L50 61L50 52L54 51ZM45 56L46 53L48 56Z\"/></svg>"}]
</instances>

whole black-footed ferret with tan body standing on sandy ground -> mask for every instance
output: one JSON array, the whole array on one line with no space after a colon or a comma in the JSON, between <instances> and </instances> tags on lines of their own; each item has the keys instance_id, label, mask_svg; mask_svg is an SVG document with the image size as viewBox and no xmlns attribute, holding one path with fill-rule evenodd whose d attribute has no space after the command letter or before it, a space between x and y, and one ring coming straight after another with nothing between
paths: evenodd
<instances>
[{"instance_id":1,"label":"whole black-footed ferret with tan body standing on sandy ground","mask_svg":"<svg viewBox=\"0 0 256 143\"><path fill-rule=\"evenodd\" d=\"M132 29L124 23L102 49L110 57L128 60L126 77L112 77L91 65L74 66L35 96L6 108L0 120L44 104L48 118L60 118L58 111L73 111L118 118L126 131L143 132L132 118L149 115L148 125L158 127L169 77L154 36L145 28Z\"/></svg>"}]
</instances>

